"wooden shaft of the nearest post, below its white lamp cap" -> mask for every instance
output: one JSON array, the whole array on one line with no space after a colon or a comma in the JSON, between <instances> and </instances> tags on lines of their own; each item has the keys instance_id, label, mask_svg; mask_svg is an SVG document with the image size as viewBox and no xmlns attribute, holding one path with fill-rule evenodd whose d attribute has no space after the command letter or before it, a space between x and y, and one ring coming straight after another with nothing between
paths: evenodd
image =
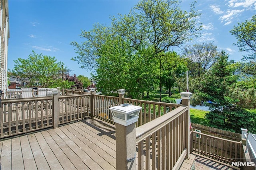
<instances>
[{"instance_id":1,"label":"wooden shaft of the nearest post, below its white lamp cap","mask_svg":"<svg viewBox=\"0 0 256 170\"><path fill-rule=\"evenodd\" d=\"M116 169L136 169L135 123L124 126L116 123ZM134 159L132 159L134 158Z\"/></svg>"}]
</instances>

